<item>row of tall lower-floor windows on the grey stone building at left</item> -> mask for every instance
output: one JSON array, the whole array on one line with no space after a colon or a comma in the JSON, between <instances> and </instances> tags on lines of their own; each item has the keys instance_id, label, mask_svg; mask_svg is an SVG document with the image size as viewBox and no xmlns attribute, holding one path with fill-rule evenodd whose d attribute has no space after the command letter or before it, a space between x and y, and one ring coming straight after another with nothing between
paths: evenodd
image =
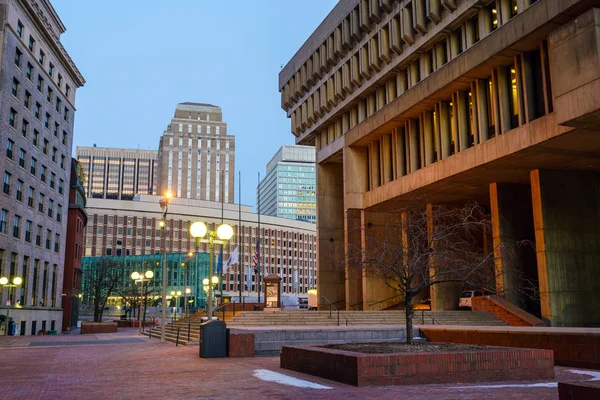
<instances>
[{"instance_id":1,"label":"row of tall lower-floor windows on the grey stone building at left","mask_svg":"<svg viewBox=\"0 0 600 400\"><path fill-rule=\"evenodd\" d=\"M1 215L1 214L0 214ZM8 258L8 271L6 271L6 258ZM21 261L21 262L19 262ZM19 265L20 264L20 265ZM12 282L13 277L20 276L23 283L14 290L9 291L11 304L21 306L56 306L56 288L58 265L42 260L34 259L33 263L29 256L20 256L18 253L10 253L0 249L0 272L8 276Z\"/></svg>"}]
</instances>

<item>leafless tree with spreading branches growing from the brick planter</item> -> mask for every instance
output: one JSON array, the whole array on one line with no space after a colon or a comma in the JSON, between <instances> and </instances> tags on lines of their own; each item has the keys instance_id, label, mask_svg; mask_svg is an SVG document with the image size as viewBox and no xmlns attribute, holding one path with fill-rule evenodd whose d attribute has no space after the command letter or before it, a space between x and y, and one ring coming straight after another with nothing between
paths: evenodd
<instances>
[{"instance_id":1,"label":"leafless tree with spreading branches growing from the brick planter","mask_svg":"<svg viewBox=\"0 0 600 400\"><path fill-rule=\"evenodd\" d=\"M400 209L384 221L363 227L360 245L347 244L346 263L404 297L407 343L413 343L413 300L427 289L450 283L494 289L494 252L507 252L483 245L491 220L479 205Z\"/></svg>"}]
</instances>

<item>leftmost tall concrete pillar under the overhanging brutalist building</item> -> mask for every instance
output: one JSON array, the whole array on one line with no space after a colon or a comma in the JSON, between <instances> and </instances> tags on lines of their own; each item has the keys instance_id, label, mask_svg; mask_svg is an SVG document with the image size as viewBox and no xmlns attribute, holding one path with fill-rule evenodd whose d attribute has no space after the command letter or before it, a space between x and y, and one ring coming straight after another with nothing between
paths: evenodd
<instances>
[{"instance_id":1,"label":"leftmost tall concrete pillar under the overhanging brutalist building","mask_svg":"<svg viewBox=\"0 0 600 400\"><path fill-rule=\"evenodd\" d=\"M325 296L343 306L344 172L337 163L317 164L317 290L319 306Z\"/></svg>"}]
</instances>

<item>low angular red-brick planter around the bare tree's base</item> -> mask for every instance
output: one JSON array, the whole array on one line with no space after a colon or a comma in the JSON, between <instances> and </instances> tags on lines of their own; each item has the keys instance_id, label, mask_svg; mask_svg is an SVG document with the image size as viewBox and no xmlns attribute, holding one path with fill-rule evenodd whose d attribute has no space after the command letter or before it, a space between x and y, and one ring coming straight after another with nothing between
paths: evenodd
<instances>
[{"instance_id":1,"label":"low angular red-brick planter around the bare tree's base","mask_svg":"<svg viewBox=\"0 0 600 400\"><path fill-rule=\"evenodd\" d=\"M553 379L551 350L364 354L319 346L284 346L281 367L355 386Z\"/></svg>"}]
</instances>

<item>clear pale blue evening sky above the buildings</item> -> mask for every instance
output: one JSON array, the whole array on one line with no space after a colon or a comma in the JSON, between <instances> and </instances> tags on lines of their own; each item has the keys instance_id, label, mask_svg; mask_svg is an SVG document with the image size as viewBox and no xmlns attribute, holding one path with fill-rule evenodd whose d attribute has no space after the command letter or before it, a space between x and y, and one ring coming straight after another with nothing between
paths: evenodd
<instances>
[{"instance_id":1,"label":"clear pale blue evening sky above the buildings","mask_svg":"<svg viewBox=\"0 0 600 400\"><path fill-rule=\"evenodd\" d=\"M156 149L184 101L223 109L236 137L242 203L257 173L294 143L277 88L285 65L337 0L51 0L87 83L74 146ZM75 152L75 147L73 147Z\"/></svg>"}]
</instances>

